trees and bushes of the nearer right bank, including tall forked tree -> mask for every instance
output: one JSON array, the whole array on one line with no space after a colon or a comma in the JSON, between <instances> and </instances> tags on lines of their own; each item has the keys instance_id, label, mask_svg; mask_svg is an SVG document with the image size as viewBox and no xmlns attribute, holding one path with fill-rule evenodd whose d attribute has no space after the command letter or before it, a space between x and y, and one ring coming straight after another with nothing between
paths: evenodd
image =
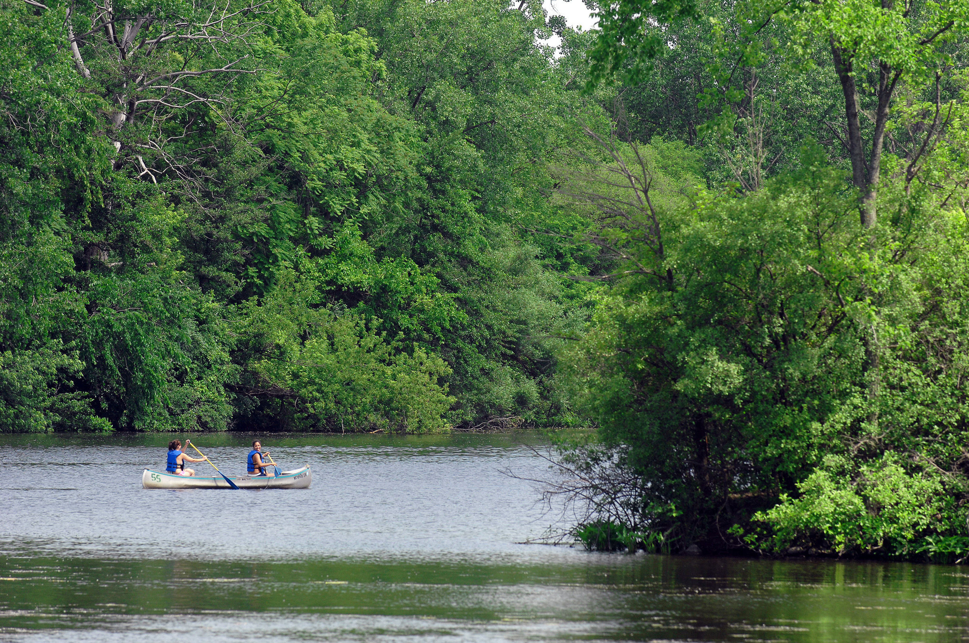
<instances>
[{"instance_id":1,"label":"trees and bushes of the nearer right bank, including tall forked tree","mask_svg":"<svg viewBox=\"0 0 969 643\"><path fill-rule=\"evenodd\" d=\"M548 493L680 548L969 554L969 3L599 6L601 442Z\"/></svg>"}]
</instances>

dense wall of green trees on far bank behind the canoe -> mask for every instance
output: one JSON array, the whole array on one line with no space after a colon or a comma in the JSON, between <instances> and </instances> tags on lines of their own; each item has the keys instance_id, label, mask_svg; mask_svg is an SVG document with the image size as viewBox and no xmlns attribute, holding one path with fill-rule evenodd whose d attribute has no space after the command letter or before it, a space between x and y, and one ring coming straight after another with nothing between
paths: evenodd
<instances>
[{"instance_id":1,"label":"dense wall of green trees on far bank behind the canoe","mask_svg":"<svg viewBox=\"0 0 969 643\"><path fill-rule=\"evenodd\" d=\"M539 5L0 12L0 430L568 419Z\"/></svg>"}]
</instances>

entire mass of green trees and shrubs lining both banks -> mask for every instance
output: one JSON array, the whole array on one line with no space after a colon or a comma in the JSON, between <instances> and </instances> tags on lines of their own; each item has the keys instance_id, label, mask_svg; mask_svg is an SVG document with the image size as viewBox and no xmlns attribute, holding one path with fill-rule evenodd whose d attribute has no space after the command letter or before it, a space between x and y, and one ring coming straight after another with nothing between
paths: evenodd
<instances>
[{"instance_id":1,"label":"entire mass of green trees and shrubs lining both banks","mask_svg":"<svg viewBox=\"0 0 969 643\"><path fill-rule=\"evenodd\" d=\"M0 432L564 427L592 548L964 560L969 3L594 4L0 0Z\"/></svg>"}]
</instances>

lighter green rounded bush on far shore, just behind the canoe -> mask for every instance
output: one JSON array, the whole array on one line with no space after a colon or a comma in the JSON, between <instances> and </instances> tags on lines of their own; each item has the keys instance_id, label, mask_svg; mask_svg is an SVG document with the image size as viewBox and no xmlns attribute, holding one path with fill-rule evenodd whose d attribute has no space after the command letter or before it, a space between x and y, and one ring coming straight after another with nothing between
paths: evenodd
<instances>
[{"instance_id":1,"label":"lighter green rounded bush on far shore, just behind the canoe","mask_svg":"<svg viewBox=\"0 0 969 643\"><path fill-rule=\"evenodd\" d=\"M450 370L420 349L400 350L369 324L315 307L312 286L293 272L279 288L243 306L240 330L252 353L254 386L273 392L280 418L299 429L437 431L453 403L439 380ZM290 416L287 417L286 415Z\"/></svg>"}]
</instances>

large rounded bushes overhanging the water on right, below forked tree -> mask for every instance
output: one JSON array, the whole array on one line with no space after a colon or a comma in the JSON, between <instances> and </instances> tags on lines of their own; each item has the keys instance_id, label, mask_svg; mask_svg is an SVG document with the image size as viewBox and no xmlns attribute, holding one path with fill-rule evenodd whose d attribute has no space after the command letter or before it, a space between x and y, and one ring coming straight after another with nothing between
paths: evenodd
<instances>
[{"instance_id":1,"label":"large rounded bushes overhanging the water on right, below forked tree","mask_svg":"<svg viewBox=\"0 0 969 643\"><path fill-rule=\"evenodd\" d=\"M573 399L600 425L601 445L561 446L587 546L656 533L674 550L969 553L966 221L901 207L895 260L896 242L870 249L841 171L802 158L743 198L660 210L665 257L638 260L662 279L617 280L567 347Z\"/></svg>"}]
</instances>

